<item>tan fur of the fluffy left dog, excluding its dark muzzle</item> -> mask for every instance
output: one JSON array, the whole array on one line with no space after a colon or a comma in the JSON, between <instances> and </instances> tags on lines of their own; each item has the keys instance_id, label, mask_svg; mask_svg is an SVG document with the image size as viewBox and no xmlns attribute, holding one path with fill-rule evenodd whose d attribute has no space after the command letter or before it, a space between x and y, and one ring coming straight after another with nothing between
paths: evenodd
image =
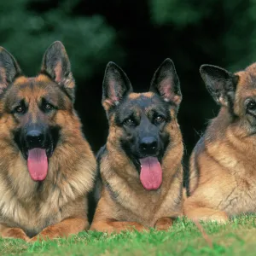
<instances>
[{"instance_id":1,"label":"tan fur of the fluffy left dog, excluding its dark muzzle","mask_svg":"<svg viewBox=\"0 0 256 256\"><path fill-rule=\"evenodd\" d=\"M38 84L33 90L26 82ZM25 83L25 84L22 84ZM66 110L56 112L49 122L61 126L61 143L49 159L49 172L40 189L27 171L26 160L13 142L15 120L3 111L9 94L16 91L36 106L40 96L47 96L49 78L16 79L0 102L0 236L29 241L25 232L43 238L68 236L88 228L86 195L93 186L96 161L85 141L72 102L63 96ZM52 86L57 86L52 84ZM54 89L53 89L54 90ZM54 95L49 95L54 96ZM56 99L57 100L57 99ZM33 105L34 104L34 105ZM32 108L32 107L31 107ZM41 113L34 107L32 120ZM26 120L23 120L26 122ZM21 124L22 125L22 124ZM25 230L25 232L24 232ZM40 233L43 230L42 233ZM32 241L37 240L37 236Z\"/></svg>"}]
</instances>

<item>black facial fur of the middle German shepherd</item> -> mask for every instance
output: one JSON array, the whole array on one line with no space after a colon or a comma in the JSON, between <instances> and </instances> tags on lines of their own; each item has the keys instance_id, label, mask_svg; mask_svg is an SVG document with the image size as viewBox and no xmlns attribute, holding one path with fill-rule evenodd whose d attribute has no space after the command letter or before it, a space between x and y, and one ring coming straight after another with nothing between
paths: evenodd
<instances>
[{"instance_id":1,"label":"black facial fur of the middle German shepherd","mask_svg":"<svg viewBox=\"0 0 256 256\"><path fill-rule=\"evenodd\" d=\"M145 109L152 108L151 113ZM164 126L171 121L170 105L163 101L160 96L151 98L140 96L137 99L128 97L116 108L115 124L124 129L125 135L120 137L120 144L125 154L131 159L140 172L139 159L147 156L155 156L162 160L166 147L172 140L169 134L164 132ZM139 114L138 114L139 113ZM157 123L157 117L163 118L163 122ZM127 125L127 119L131 119L134 125ZM142 150L141 144L145 137L154 137L155 150L146 152Z\"/></svg>"}]
</instances>

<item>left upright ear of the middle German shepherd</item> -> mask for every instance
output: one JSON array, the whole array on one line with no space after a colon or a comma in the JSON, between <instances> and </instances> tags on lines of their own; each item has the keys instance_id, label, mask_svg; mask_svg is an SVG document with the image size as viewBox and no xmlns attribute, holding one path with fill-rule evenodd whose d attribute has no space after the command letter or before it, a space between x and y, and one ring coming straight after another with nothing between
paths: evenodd
<instances>
[{"instance_id":1,"label":"left upright ear of the middle German shepherd","mask_svg":"<svg viewBox=\"0 0 256 256\"><path fill-rule=\"evenodd\" d=\"M125 72L113 62L108 62L102 89L102 105L108 111L132 91L132 86Z\"/></svg>"}]
</instances>

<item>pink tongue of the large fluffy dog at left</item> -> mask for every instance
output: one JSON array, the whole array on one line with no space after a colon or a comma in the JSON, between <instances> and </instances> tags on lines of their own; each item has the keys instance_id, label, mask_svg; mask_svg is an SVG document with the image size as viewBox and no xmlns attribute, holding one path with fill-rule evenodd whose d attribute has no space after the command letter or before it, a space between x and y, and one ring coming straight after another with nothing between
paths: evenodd
<instances>
[{"instance_id":1,"label":"pink tongue of the large fluffy dog at left","mask_svg":"<svg viewBox=\"0 0 256 256\"><path fill-rule=\"evenodd\" d=\"M27 168L32 180L44 180L48 172L48 160L44 148L32 148L28 150Z\"/></svg>"}]
</instances>

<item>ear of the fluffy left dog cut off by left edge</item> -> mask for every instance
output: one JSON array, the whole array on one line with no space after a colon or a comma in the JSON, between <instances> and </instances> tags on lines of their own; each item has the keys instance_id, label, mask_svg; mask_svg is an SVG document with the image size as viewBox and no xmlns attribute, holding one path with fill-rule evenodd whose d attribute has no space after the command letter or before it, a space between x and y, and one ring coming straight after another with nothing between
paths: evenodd
<instances>
[{"instance_id":1,"label":"ear of the fluffy left dog cut off by left edge","mask_svg":"<svg viewBox=\"0 0 256 256\"><path fill-rule=\"evenodd\" d=\"M0 94L20 75L21 70L14 56L0 47Z\"/></svg>"}]
</instances>

